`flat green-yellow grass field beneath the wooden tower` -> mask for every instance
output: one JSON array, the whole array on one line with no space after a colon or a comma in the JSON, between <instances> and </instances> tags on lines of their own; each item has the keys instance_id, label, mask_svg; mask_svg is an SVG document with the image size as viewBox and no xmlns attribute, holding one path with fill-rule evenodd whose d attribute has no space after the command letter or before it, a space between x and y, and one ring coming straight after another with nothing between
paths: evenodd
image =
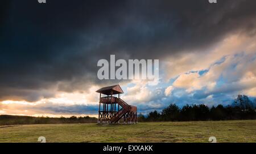
<instances>
[{"instance_id":1,"label":"flat green-yellow grass field beneath the wooden tower","mask_svg":"<svg viewBox=\"0 0 256 154\"><path fill-rule=\"evenodd\" d=\"M256 142L256 120L0 126L0 142Z\"/></svg>"}]
</instances>

